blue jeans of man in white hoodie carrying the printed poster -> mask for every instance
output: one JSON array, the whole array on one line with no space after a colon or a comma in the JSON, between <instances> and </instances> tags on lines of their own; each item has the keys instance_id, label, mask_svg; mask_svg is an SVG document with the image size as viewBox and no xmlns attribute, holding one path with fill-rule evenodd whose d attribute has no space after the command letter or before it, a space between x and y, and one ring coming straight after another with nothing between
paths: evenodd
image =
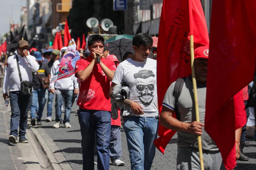
<instances>
[{"instance_id":1,"label":"blue jeans of man in white hoodie carrying the printed poster","mask_svg":"<svg viewBox=\"0 0 256 170\"><path fill-rule=\"evenodd\" d=\"M60 94L56 95L55 99L55 121L62 121L61 118L61 105L63 104L63 97L65 101L65 115L63 123L69 122L69 116L72 108L72 96L73 96L73 90L61 90L56 89L60 91Z\"/></svg>"}]
</instances>

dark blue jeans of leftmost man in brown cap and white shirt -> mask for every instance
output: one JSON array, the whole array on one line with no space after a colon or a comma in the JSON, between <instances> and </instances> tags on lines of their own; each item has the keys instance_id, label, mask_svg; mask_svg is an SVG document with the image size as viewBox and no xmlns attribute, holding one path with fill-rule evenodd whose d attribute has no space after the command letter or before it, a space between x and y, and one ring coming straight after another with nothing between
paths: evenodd
<instances>
[{"instance_id":1,"label":"dark blue jeans of leftmost man in brown cap and white shirt","mask_svg":"<svg viewBox=\"0 0 256 170\"><path fill-rule=\"evenodd\" d=\"M10 135L25 137L28 121L28 110L32 100L31 96L22 96L20 91L10 91L10 104L11 104L11 125Z\"/></svg>"}]
</instances>

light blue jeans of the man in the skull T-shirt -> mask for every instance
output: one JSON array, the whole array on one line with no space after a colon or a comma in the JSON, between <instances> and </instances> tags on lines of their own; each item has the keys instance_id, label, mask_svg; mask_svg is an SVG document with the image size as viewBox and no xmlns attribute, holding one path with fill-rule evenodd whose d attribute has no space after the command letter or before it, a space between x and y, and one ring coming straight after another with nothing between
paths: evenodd
<instances>
[{"instance_id":1,"label":"light blue jeans of the man in the skull T-shirt","mask_svg":"<svg viewBox=\"0 0 256 170\"><path fill-rule=\"evenodd\" d=\"M132 170L149 170L153 163L156 147L153 141L158 132L158 116L125 116L124 130Z\"/></svg>"}]
</instances>

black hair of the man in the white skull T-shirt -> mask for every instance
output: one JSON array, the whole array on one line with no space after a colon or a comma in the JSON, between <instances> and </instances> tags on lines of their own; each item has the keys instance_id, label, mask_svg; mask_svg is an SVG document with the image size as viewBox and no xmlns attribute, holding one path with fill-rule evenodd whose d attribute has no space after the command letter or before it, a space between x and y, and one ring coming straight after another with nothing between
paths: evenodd
<instances>
[{"instance_id":1,"label":"black hair of the man in the white skull T-shirt","mask_svg":"<svg viewBox=\"0 0 256 170\"><path fill-rule=\"evenodd\" d=\"M147 33L139 33L133 37L132 45L136 47L139 47L140 45L143 45L143 47L147 47L149 45L153 45L153 39Z\"/></svg>"}]
</instances>

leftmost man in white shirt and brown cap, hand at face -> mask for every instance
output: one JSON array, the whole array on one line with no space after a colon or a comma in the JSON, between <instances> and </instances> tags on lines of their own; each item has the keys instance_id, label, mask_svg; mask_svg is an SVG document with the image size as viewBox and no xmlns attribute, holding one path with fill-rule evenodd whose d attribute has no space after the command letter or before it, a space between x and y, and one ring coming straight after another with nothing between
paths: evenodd
<instances>
[{"instance_id":1,"label":"leftmost man in white shirt and brown cap, hand at face","mask_svg":"<svg viewBox=\"0 0 256 170\"><path fill-rule=\"evenodd\" d=\"M18 42L18 50L15 54L7 59L5 74L3 80L3 98L8 96L7 88L9 87L10 103L11 103L11 125L9 141L17 144L18 127L19 127L19 142L28 143L25 138L28 110L32 100L31 96L22 96L20 94L21 82L19 79L19 71L16 57L19 61L19 69L23 81L32 82L32 72L39 69L39 64L36 58L28 53L28 42L20 40Z\"/></svg>"}]
</instances>

